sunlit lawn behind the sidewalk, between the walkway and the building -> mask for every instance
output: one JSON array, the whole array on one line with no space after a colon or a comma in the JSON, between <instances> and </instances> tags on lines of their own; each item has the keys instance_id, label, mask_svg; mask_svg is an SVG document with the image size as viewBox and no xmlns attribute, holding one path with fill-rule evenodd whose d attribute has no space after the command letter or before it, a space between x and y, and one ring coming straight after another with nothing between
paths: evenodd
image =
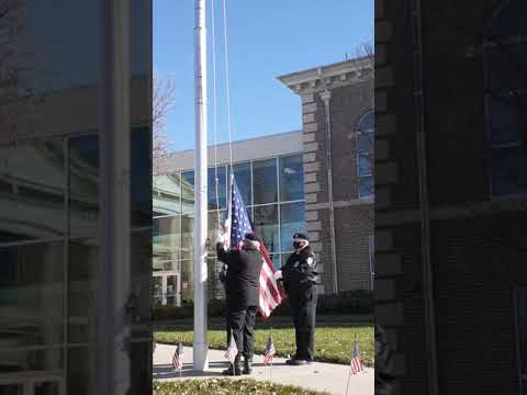
<instances>
[{"instance_id":1,"label":"sunlit lawn behind the sidewalk, between the walkway and the building","mask_svg":"<svg viewBox=\"0 0 527 395\"><path fill-rule=\"evenodd\" d=\"M374 342L372 326L356 327L317 327L315 331L315 360L319 362L333 362L348 364L354 346L355 335L359 340L363 362L368 366L373 365ZM256 329L255 351L262 354L266 349L268 329ZM184 346L192 346L192 330L158 331L155 339L159 343L175 345L181 341ZM272 329L272 340L277 354L288 357L294 354L294 329ZM225 330L209 330L209 343L211 349L223 350L226 348Z\"/></svg>"}]
</instances>

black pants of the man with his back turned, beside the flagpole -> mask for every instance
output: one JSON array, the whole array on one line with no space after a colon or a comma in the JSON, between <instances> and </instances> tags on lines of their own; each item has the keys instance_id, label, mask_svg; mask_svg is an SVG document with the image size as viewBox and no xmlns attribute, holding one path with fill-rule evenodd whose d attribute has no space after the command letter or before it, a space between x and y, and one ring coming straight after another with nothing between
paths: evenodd
<instances>
[{"instance_id":1,"label":"black pants of the man with his back turned, beside the flagpole","mask_svg":"<svg viewBox=\"0 0 527 395\"><path fill-rule=\"evenodd\" d=\"M238 348L244 353L245 360L253 360L255 353L255 321L257 306L242 307L227 311L227 345L231 342L231 334Z\"/></svg>"}]
</instances>

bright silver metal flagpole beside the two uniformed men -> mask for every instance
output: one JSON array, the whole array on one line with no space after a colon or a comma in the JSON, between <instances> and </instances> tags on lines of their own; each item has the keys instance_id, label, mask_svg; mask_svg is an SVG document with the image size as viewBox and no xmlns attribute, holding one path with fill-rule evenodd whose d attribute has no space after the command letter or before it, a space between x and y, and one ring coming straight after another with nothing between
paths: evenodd
<instances>
[{"instance_id":1,"label":"bright silver metal flagpole beside the two uniformed men","mask_svg":"<svg viewBox=\"0 0 527 395\"><path fill-rule=\"evenodd\" d=\"M205 0L195 0L194 26L194 340L193 369L209 369L206 340L206 27Z\"/></svg>"}]
</instances>

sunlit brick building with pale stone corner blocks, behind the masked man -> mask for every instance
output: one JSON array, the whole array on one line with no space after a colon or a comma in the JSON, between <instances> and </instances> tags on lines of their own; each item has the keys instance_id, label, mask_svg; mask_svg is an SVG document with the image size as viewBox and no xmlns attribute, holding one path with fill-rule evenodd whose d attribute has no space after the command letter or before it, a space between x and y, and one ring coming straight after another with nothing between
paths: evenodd
<instances>
[{"instance_id":1,"label":"sunlit brick building with pale stone corner blocks, behind the masked man","mask_svg":"<svg viewBox=\"0 0 527 395\"><path fill-rule=\"evenodd\" d=\"M370 289L372 61L362 57L279 79L302 100L306 228L325 293Z\"/></svg>"}]
</instances>

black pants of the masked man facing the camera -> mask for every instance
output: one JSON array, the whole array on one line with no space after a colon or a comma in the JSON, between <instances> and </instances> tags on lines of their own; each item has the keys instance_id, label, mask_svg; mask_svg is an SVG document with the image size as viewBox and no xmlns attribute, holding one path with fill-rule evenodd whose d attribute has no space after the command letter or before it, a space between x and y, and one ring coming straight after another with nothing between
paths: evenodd
<instances>
[{"instance_id":1,"label":"black pants of the masked man facing the camera","mask_svg":"<svg viewBox=\"0 0 527 395\"><path fill-rule=\"evenodd\" d=\"M313 361L315 352L316 286L291 297L291 315L294 323L296 353L294 359Z\"/></svg>"}]
</instances>

